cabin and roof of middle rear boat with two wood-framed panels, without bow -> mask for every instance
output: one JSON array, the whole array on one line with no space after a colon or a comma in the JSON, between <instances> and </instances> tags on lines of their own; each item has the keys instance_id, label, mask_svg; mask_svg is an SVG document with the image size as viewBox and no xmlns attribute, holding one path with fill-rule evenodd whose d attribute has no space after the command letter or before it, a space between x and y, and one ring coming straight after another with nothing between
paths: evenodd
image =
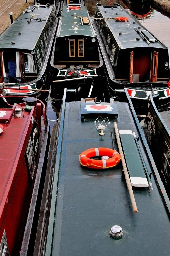
<instances>
[{"instance_id":1,"label":"cabin and roof of middle rear boat with two wood-framed panels, without bow","mask_svg":"<svg viewBox=\"0 0 170 256\"><path fill-rule=\"evenodd\" d=\"M96 34L86 6L63 7L51 62L58 69L95 68L100 64Z\"/></svg>"}]
</instances>

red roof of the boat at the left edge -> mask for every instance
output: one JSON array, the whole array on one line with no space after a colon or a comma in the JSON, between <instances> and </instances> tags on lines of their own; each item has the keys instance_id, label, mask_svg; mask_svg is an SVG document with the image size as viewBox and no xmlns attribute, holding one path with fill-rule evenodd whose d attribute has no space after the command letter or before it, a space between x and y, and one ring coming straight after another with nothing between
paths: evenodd
<instances>
[{"instance_id":1,"label":"red roof of the boat at the left edge","mask_svg":"<svg viewBox=\"0 0 170 256\"><path fill-rule=\"evenodd\" d=\"M22 158L24 154L23 146L28 127L32 124L31 117L35 115L34 107L31 111L24 111L24 106L20 105L19 109L23 110L21 118L14 116L15 108L0 109L0 128L4 127L3 133L0 134L0 216L11 185L15 183L16 175L18 175L17 165L19 158Z\"/></svg>"}]
</instances>

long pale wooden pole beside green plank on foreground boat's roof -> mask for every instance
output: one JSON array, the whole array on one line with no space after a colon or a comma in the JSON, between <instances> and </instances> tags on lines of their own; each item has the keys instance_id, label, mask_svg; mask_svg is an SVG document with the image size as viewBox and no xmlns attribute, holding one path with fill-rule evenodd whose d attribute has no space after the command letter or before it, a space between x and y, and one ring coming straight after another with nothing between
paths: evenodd
<instances>
[{"instance_id":1,"label":"long pale wooden pole beside green plank on foreground boat's roof","mask_svg":"<svg viewBox=\"0 0 170 256\"><path fill-rule=\"evenodd\" d=\"M130 181L129 174L128 174L128 169L126 167L126 162L125 162L125 159L124 159L123 150L122 150L122 146L121 146L121 142L120 142L120 138L119 138L119 132L118 132L116 122L114 122L114 127L115 127L116 139L117 139L117 143L118 143L118 147L119 147L119 154L120 154L121 160L122 160L124 175L125 175L126 183L127 183L127 186L128 186L129 195L130 195L130 198L131 198L133 212L137 213L138 210L137 210L137 206L136 206L136 202L135 202L135 198L134 198L134 194L133 194L133 190L132 190L131 181Z\"/></svg>"}]
</instances>

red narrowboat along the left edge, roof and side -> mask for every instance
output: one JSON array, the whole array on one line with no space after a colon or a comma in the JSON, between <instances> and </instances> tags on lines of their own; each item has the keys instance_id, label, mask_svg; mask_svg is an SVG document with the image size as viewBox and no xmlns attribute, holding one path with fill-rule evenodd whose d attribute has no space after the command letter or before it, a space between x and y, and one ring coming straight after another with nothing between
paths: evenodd
<instances>
[{"instance_id":1,"label":"red narrowboat along the left edge, roof and side","mask_svg":"<svg viewBox=\"0 0 170 256\"><path fill-rule=\"evenodd\" d=\"M5 96L6 106L0 107L0 254L17 256L27 218L37 214L50 130L42 101L15 96L20 103L11 105L12 97Z\"/></svg>"}]
</instances>

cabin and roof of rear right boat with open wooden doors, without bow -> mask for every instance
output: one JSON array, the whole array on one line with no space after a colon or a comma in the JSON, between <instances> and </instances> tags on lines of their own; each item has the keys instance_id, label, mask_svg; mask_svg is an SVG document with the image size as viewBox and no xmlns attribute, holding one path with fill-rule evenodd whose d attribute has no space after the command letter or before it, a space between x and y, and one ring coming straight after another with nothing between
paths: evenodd
<instances>
[{"instance_id":1,"label":"cabin and roof of rear right boat with open wooden doors, without bow","mask_svg":"<svg viewBox=\"0 0 170 256\"><path fill-rule=\"evenodd\" d=\"M122 6L97 4L95 23L113 79L121 83L168 82L168 48Z\"/></svg>"}]
</instances>

